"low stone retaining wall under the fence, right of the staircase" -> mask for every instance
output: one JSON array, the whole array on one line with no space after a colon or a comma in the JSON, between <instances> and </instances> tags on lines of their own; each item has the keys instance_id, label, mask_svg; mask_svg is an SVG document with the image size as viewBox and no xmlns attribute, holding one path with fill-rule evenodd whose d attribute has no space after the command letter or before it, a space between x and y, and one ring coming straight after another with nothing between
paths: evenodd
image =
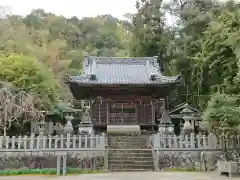
<instances>
[{"instance_id":1,"label":"low stone retaining wall under the fence, right of the staircase","mask_svg":"<svg viewBox=\"0 0 240 180\"><path fill-rule=\"evenodd\" d=\"M159 169L168 168L212 171L217 161L224 160L221 152L159 152Z\"/></svg>"}]
</instances>

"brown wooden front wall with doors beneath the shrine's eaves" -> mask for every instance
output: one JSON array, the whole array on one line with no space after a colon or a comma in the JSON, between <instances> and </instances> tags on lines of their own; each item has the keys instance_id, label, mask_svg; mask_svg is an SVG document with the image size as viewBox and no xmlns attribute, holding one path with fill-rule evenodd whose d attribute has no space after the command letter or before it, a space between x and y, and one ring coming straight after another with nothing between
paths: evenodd
<instances>
[{"instance_id":1,"label":"brown wooden front wall with doors beneath the shrine's eaves","mask_svg":"<svg viewBox=\"0 0 240 180\"><path fill-rule=\"evenodd\" d=\"M103 99L91 106L95 125L155 125L154 101L114 101Z\"/></svg>"}]
</instances>

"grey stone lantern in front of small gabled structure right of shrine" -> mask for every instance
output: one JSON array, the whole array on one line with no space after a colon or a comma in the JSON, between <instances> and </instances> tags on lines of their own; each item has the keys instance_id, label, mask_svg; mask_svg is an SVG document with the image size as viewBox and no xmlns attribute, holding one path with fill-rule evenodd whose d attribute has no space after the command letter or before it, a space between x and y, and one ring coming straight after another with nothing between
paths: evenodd
<instances>
[{"instance_id":1,"label":"grey stone lantern in front of small gabled structure right of shrine","mask_svg":"<svg viewBox=\"0 0 240 180\"><path fill-rule=\"evenodd\" d=\"M188 104L185 104L184 109L181 111L183 114L184 124L182 127L182 132L184 134L189 134L194 131L194 118L192 116L193 111L188 107Z\"/></svg>"}]
</instances>

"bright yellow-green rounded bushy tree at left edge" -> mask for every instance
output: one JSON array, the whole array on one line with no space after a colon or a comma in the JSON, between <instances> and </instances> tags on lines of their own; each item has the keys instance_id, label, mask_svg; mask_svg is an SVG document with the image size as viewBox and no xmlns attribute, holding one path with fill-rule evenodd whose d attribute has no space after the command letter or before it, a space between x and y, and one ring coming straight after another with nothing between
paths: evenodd
<instances>
[{"instance_id":1,"label":"bright yellow-green rounded bushy tree at left edge","mask_svg":"<svg viewBox=\"0 0 240 180\"><path fill-rule=\"evenodd\" d=\"M0 58L1 81L38 96L45 107L57 102L58 84L53 73L35 58L12 54Z\"/></svg>"}]
</instances>

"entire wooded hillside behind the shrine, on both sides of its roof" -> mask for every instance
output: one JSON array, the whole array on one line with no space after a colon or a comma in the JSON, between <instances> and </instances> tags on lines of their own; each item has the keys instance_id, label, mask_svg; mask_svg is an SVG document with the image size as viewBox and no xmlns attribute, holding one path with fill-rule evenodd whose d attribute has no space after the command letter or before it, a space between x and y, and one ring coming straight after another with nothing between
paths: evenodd
<instances>
[{"instance_id":1,"label":"entire wooded hillside behind the shrine, on both sides of its roof","mask_svg":"<svg viewBox=\"0 0 240 180\"><path fill-rule=\"evenodd\" d=\"M41 9L26 17L2 15L1 80L34 92L51 108L70 99L63 78L81 72L85 53L158 55L165 75L183 76L171 106L187 101L204 110L216 92L238 98L240 4L172 0L156 5L141 0L136 7L136 14L126 15L129 21L111 15L67 19Z\"/></svg>"}]
</instances>

